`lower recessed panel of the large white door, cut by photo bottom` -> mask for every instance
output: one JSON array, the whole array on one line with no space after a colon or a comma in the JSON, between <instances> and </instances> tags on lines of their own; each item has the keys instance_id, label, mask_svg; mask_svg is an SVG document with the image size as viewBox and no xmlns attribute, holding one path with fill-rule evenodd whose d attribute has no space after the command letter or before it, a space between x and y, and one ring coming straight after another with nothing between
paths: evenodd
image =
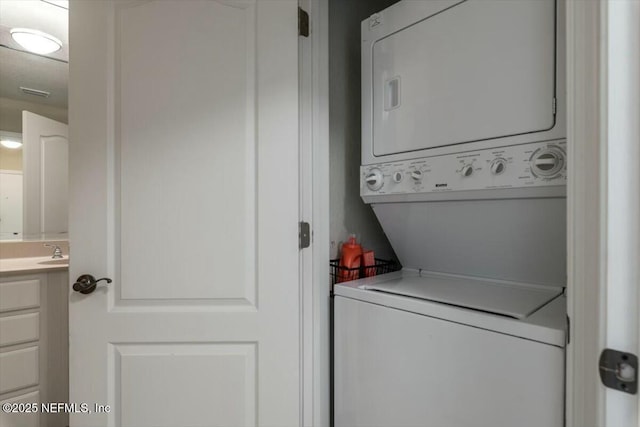
<instances>
[{"instance_id":1,"label":"lower recessed panel of the large white door, cut by photo bottom","mask_svg":"<svg viewBox=\"0 0 640 427\"><path fill-rule=\"evenodd\" d=\"M222 415L221 425L257 425L257 342L112 343L109 348L113 425L207 426L211 414ZM149 399L141 386L147 378L173 388L160 394L161 402L156 395ZM192 409L178 418L158 409L173 405Z\"/></svg>"}]
</instances>

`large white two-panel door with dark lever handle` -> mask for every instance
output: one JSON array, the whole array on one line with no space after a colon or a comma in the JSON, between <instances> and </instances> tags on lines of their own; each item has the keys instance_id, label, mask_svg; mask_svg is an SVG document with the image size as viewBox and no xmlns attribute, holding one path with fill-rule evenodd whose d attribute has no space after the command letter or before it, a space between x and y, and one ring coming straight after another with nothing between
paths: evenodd
<instances>
[{"instance_id":1,"label":"large white two-panel door with dark lever handle","mask_svg":"<svg viewBox=\"0 0 640 427\"><path fill-rule=\"evenodd\" d=\"M298 425L297 2L69 12L71 425Z\"/></svg>"}]
</instances>

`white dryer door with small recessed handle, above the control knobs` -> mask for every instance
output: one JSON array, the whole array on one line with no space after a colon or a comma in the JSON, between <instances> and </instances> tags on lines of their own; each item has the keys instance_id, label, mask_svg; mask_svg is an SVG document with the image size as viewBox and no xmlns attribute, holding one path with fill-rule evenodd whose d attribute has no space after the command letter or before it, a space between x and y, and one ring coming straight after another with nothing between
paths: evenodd
<instances>
[{"instance_id":1,"label":"white dryer door with small recessed handle, above the control knobs","mask_svg":"<svg viewBox=\"0 0 640 427\"><path fill-rule=\"evenodd\" d=\"M373 43L373 154L552 128L555 11L467 0Z\"/></svg>"}]
</instances>

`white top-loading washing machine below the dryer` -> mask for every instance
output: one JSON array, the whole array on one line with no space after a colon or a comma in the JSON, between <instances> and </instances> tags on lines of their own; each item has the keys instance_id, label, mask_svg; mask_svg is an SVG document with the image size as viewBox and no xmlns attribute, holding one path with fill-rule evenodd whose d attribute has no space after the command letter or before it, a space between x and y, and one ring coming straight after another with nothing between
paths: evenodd
<instances>
[{"instance_id":1,"label":"white top-loading washing machine below the dryer","mask_svg":"<svg viewBox=\"0 0 640 427\"><path fill-rule=\"evenodd\" d=\"M562 288L408 269L336 286L335 425L564 425L565 306Z\"/></svg>"}]
</instances>

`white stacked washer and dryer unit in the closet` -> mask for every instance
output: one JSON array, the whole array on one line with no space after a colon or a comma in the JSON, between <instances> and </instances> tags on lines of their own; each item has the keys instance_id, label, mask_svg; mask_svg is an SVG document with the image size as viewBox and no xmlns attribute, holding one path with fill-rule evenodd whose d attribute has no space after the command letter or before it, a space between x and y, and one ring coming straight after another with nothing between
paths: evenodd
<instances>
[{"instance_id":1,"label":"white stacked washer and dryer unit in the closet","mask_svg":"<svg viewBox=\"0 0 640 427\"><path fill-rule=\"evenodd\" d=\"M362 23L361 196L403 269L334 289L335 425L564 425L564 5Z\"/></svg>"}]
</instances>

